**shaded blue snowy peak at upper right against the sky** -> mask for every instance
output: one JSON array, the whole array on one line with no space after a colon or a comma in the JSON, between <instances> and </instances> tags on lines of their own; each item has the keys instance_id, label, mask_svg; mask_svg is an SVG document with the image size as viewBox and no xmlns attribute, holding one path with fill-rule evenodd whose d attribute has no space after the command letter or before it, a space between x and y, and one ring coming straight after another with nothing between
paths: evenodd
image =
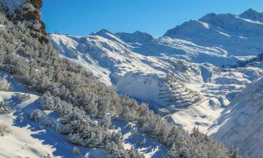
<instances>
[{"instance_id":1,"label":"shaded blue snowy peak at upper right against the sky","mask_svg":"<svg viewBox=\"0 0 263 158\"><path fill-rule=\"evenodd\" d=\"M241 15L209 13L168 30L164 37L221 48L227 55L257 55L263 50L263 23L260 21L262 13L251 9Z\"/></svg>"}]
</instances>

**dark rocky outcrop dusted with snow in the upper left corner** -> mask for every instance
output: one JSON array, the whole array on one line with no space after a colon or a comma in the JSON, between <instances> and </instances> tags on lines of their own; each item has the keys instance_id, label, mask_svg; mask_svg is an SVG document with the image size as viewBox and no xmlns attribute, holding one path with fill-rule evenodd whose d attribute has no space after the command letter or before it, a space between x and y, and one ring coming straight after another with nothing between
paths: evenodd
<instances>
[{"instance_id":1,"label":"dark rocky outcrop dusted with snow in the upper left corner","mask_svg":"<svg viewBox=\"0 0 263 158\"><path fill-rule=\"evenodd\" d=\"M4 6L4 12L10 20L24 23L32 29L32 37L41 43L48 43L46 27L40 19L43 0L0 0L0 4Z\"/></svg>"}]
</instances>

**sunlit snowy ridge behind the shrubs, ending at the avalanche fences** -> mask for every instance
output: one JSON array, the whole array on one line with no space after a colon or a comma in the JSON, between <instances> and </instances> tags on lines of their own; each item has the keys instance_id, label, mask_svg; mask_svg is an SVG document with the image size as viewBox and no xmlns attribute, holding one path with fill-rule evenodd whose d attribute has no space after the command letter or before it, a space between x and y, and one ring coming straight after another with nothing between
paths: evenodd
<instances>
[{"instance_id":1,"label":"sunlit snowy ridge behind the shrubs, ending at the avalanche fences","mask_svg":"<svg viewBox=\"0 0 263 158\"><path fill-rule=\"evenodd\" d=\"M167 74L176 74L177 77L188 81L201 77L196 74L196 65L176 58L150 57L134 53L130 50L132 46L127 46L128 44L114 34L104 30L88 37L50 34L50 39L61 55L83 65L104 83L114 84L120 93L153 105L166 105L168 100L164 97L172 98L176 95L173 88L168 88ZM175 82L177 81L174 81L174 84ZM181 88L184 91L186 86L182 85ZM161 91L167 95L159 96ZM185 91L189 93L184 98L189 98L191 90ZM197 101L196 99L193 101ZM175 109L174 101L171 102L167 107Z\"/></svg>"}]
</instances>

